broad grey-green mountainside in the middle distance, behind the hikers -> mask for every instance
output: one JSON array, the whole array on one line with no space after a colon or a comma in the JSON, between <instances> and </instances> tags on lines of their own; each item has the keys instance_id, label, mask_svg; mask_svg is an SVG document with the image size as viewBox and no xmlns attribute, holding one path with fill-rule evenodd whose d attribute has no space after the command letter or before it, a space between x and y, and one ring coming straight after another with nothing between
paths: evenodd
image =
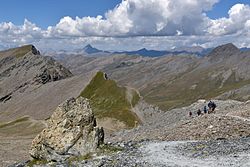
<instances>
[{"instance_id":1,"label":"broad grey-green mountainside in the middle distance, behind the hikers","mask_svg":"<svg viewBox=\"0 0 250 167\"><path fill-rule=\"evenodd\" d=\"M162 57L112 55L61 60L75 74L105 71L120 85L140 91L150 104L169 110L198 99L250 99L250 52L233 44L216 47L208 55Z\"/></svg>"}]
</instances>

